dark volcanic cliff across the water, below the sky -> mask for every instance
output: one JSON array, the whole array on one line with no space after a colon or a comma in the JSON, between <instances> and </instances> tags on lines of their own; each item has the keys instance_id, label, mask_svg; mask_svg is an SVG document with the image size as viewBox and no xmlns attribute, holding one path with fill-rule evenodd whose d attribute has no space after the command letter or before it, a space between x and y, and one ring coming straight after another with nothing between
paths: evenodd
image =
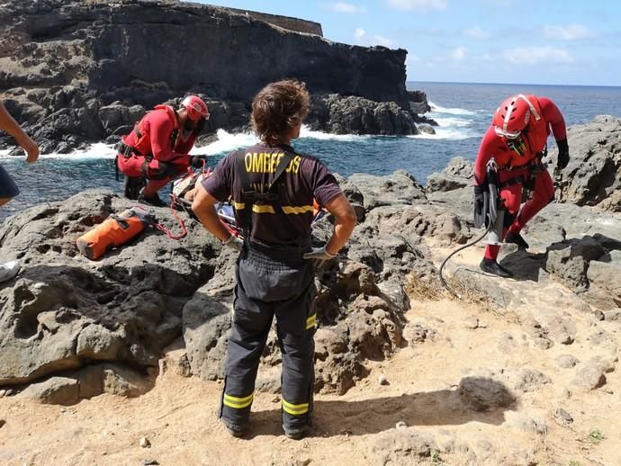
<instances>
[{"instance_id":1,"label":"dark volcanic cliff across the water, below the sky","mask_svg":"<svg viewBox=\"0 0 621 466\"><path fill-rule=\"evenodd\" d=\"M0 93L44 148L61 151L121 132L144 109L190 92L214 110L207 130L240 128L257 90L284 77L308 85L316 129L415 133L406 53L202 4L0 2ZM361 99L344 112L334 94Z\"/></svg>"}]
</instances>

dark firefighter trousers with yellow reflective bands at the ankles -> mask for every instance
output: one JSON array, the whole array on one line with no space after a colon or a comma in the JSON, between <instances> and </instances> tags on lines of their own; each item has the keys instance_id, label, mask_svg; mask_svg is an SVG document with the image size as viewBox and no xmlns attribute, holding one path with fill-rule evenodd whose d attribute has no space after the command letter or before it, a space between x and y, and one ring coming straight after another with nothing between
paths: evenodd
<instances>
[{"instance_id":1,"label":"dark firefighter trousers with yellow reflective bands at the ankles","mask_svg":"<svg viewBox=\"0 0 621 466\"><path fill-rule=\"evenodd\" d=\"M236 278L220 418L228 426L247 426L259 358L275 317L283 356L283 426L303 429L311 424L314 384L314 266L302 259L300 248L275 254L249 245L239 255Z\"/></svg>"}]
</instances>

